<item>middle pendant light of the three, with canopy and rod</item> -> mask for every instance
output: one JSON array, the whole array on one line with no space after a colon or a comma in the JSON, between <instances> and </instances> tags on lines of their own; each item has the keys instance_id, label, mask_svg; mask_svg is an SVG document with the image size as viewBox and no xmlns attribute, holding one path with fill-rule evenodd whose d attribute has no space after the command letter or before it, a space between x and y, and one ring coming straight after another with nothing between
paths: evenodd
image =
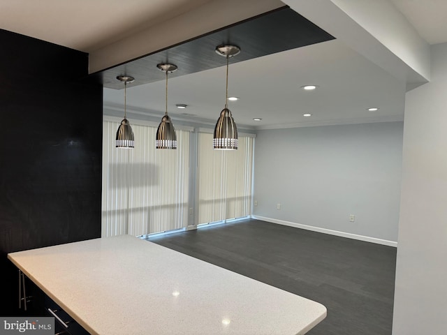
<instances>
[{"instance_id":1,"label":"middle pendant light of the three, with canopy and rod","mask_svg":"<svg viewBox=\"0 0 447 335\"><path fill-rule=\"evenodd\" d=\"M166 112L161 118L159 128L156 131L156 149L177 149L177 135L175 128L168 116L168 73L177 70L177 66L173 64L158 64L159 70L166 73Z\"/></svg>"}]
</instances>

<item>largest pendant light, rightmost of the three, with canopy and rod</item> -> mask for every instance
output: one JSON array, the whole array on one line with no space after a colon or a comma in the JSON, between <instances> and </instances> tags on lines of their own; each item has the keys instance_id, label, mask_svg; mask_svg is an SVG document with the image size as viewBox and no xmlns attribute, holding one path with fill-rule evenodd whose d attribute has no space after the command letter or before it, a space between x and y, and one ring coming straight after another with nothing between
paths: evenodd
<instances>
[{"instance_id":1,"label":"largest pendant light, rightmost of the three, with canopy and rod","mask_svg":"<svg viewBox=\"0 0 447 335\"><path fill-rule=\"evenodd\" d=\"M237 149L237 128L231 111L228 110L228 60L240 53L240 48L235 45L219 45L217 54L226 57L226 96L225 108L214 127L213 147L221 150Z\"/></svg>"}]
</instances>

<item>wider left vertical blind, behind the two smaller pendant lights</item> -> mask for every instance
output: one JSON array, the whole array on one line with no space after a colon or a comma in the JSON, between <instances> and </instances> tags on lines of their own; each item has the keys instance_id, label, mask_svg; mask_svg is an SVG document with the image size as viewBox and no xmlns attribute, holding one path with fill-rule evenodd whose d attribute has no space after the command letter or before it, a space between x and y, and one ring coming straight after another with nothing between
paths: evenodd
<instances>
[{"instance_id":1,"label":"wider left vertical blind, behind the two smaller pendant lights","mask_svg":"<svg viewBox=\"0 0 447 335\"><path fill-rule=\"evenodd\" d=\"M135 149L118 149L119 121L103 121L101 236L139 236L186 227L189 131L175 150L155 149L156 127L132 124Z\"/></svg>"}]
</instances>

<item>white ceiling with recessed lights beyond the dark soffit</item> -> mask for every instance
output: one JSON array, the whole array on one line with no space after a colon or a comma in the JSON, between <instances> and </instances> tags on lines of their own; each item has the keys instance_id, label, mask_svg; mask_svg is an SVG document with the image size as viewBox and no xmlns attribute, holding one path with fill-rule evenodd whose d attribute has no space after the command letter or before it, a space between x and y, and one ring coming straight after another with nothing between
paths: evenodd
<instances>
[{"instance_id":1,"label":"white ceiling with recessed lights beyond the dark soffit","mask_svg":"<svg viewBox=\"0 0 447 335\"><path fill-rule=\"evenodd\" d=\"M184 120L211 117L215 122L225 104L225 75L221 67L168 79L168 114ZM228 102L238 125L284 128L397 121L404 112L405 84L339 40L230 64L228 82L229 96L240 97ZM317 84L318 89L300 88L306 84ZM159 115L166 109L165 89L164 81L132 87L127 90L128 106ZM105 89L104 100L122 110L124 92ZM176 103L188 107L179 110ZM379 111L367 111L376 106ZM182 117L182 112L196 116ZM302 116L307 112L312 117Z\"/></svg>"}]
</instances>

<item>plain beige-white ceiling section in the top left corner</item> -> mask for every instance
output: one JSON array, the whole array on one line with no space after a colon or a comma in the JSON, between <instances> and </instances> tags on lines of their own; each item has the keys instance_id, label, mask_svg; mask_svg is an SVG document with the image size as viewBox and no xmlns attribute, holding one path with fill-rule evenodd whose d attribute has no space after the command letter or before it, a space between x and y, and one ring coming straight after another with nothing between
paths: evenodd
<instances>
[{"instance_id":1,"label":"plain beige-white ceiling section in the top left corner","mask_svg":"<svg viewBox=\"0 0 447 335\"><path fill-rule=\"evenodd\" d=\"M210 0L1 0L0 27L93 52Z\"/></svg>"}]
</instances>

